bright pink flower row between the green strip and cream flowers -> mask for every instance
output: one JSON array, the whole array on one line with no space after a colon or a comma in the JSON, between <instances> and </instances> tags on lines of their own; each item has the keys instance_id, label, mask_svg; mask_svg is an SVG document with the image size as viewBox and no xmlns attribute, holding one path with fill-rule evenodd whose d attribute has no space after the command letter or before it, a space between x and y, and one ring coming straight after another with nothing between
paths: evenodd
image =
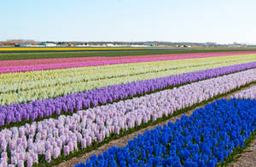
<instances>
[{"instance_id":1,"label":"bright pink flower row between the green strip and cream flowers","mask_svg":"<svg viewBox=\"0 0 256 167\"><path fill-rule=\"evenodd\" d=\"M38 60L2 60L0 61L0 73L7 72L28 72L39 70L51 70L80 66L103 66L122 63L148 62L156 60L178 60L203 58L224 55L246 55L256 54L256 51L246 52L217 52L217 53L196 53L196 54L173 54L173 55L137 55L117 57L79 57L79 58L57 58Z\"/></svg>"}]
</instances>

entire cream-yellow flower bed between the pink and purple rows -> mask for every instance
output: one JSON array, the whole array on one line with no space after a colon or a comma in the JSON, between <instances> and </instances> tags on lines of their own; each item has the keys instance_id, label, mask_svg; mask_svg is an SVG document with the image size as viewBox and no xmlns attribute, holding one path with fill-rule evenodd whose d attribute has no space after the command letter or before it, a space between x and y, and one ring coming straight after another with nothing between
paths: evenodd
<instances>
[{"instance_id":1,"label":"entire cream-yellow flower bed between the pink and purple rows","mask_svg":"<svg viewBox=\"0 0 256 167\"><path fill-rule=\"evenodd\" d=\"M255 55L232 57L229 56L228 60L225 57L214 57L214 59L179 60L179 62L155 61L148 64L137 63L1 74L0 105L55 98L114 84L162 78L256 60Z\"/></svg>"}]
</instances>

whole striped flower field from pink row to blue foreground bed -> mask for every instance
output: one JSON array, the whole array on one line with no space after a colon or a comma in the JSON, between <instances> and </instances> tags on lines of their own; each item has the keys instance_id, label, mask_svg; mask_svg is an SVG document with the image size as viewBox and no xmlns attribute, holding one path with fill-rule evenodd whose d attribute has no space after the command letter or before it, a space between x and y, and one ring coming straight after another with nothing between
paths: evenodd
<instances>
[{"instance_id":1,"label":"whole striped flower field from pink row to blue foreground bed","mask_svg":"<svg viewBox=\"0 0 256 167\"><path fill-rule=\"evenodd\" d=\"M3 60L0 166L60 164L201 105L76 166L215 166L255 133L254 83L253 51Z\"/></svg>"}]
</instances>

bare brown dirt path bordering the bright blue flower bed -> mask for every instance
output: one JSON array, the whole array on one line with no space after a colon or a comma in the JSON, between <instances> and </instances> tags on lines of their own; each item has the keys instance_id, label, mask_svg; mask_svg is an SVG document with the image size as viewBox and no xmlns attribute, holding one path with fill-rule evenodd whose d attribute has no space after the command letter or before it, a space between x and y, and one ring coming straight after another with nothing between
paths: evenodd
<instances>
[{"instance_id":1,"label":"bare brown dirt path bordering the bright blue flower bed","mask_svg":"<svg viewBox=\"0 0 256 167\"><path fill-rule=\"evenodd\" d=\"M250 87L252 87L253 85L256 85L256 84L252 84L250 85ZM247 88L244 88L244 89L248 89L250 87L247 87ZM241 89L243 90L243 89ZM239 90L239 91L241 91ZM238 93L239 91L236 91L230 95L235 95L236 93ZM230 95L226 95L224 97L221 97L221 98L218 98L218 99L228 99L230 100ZM202 105L200 107L196 107L195 109L197 108L201 108L201 107L204 107L205 105ZM194 110L190 110L186 113L183 113L183 114L180 114L180 115L177 115L173 118L170 118L170 119L167 119L166 121L164 122L161 122L160 124L155 124L154 126L148 126L147 128L144 128L142 130L137 130L136 132L130 134L130 135L125 135L124 137L122 138L119 138L117 140L113 140L113 141L110 141L108 142L107 144L103 145L102 147L99 147L97 148L96 150L93 150L91 151L90 153L84 153L84 155L82 155L81 157L74 157L74 158L71 158L67 161L64 161L63 163L61 164L57 164L55 165L55 167L73 167L75 164L79 164L81 162L85 162L86 159L90 158L90 156L94 155L94 154L99 154L99 153L103 153L105 151L108 150L108 148L110 147L125 147L125 145L128 144L128 141L131 141L134 137L137 137L138 134L141 134L143 135L143 133L146 131L146 130L153 130L156 126L162 126L163 124L167 124L168 122L173 122L175 123L177 119L181 118L182 115L187 115L187 116L190 116L194 111ZM254 141L254 154L251 155L251 153L247 153L249 154L250 156L247 156L247 161L250 162L250 164L252 163L256 163L256 140ZM244 159L243 159L244 160ZM256 164L253 164L255 167L256 167ZM249 165L250 167L252 167L253 165ZM237 166L237 165L236 165ZM239 165L238 166L242 166L242 165ZM253 167L254 167L253 166ZM230 166L231 167L231 166ZM232 166L233 167L233 166ZM235 167L235 166L234 166Z\"/></svg>"}]
</instances>

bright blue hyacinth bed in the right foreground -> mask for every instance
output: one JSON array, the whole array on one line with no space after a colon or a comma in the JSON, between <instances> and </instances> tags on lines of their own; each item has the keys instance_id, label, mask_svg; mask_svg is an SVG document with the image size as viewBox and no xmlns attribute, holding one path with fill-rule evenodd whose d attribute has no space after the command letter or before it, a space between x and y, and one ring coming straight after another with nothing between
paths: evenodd
<instances>
[{"instance_id":1,"label":"bright blue hyacinth bed in the right foreground","mask_svg":"<svg viewBox=\"0 0 256 167\"><path fill-rule=\"evenodd\" d=\"M256 101L219 100L75 167L216 166L256 130Z\"/></svg>"}]
</instances>

